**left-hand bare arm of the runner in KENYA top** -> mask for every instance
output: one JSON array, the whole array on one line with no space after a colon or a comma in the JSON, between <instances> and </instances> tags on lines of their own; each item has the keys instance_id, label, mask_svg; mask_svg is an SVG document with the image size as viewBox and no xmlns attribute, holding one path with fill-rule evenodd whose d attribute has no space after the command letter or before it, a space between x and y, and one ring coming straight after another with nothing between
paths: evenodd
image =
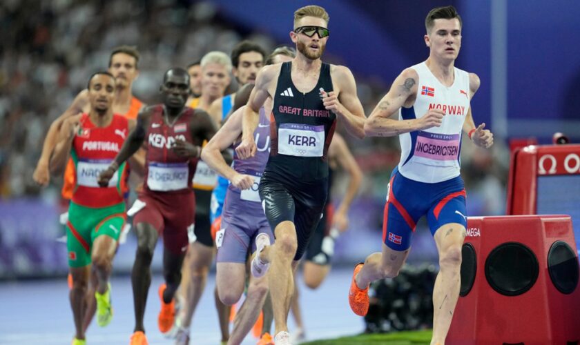
<instances>
[{"instance_id":1,"label":"left-hand bare arm of the runner in KENYA top","mask_svg":"<svg viewBox=\"0 0 580 345\"><path fill-rule=\"evenodd\" d=\"M129 132L121 150L117 153L117 157L113 159L113 163L111 163L110 166L106 170L103 170L99 175L99 186L108 186L108 181L113 177L119 166L141 148L147 134L149 121L151 121L151 114L153 114L153 107L147 106L139 110L135 128Z\"/></svg>"}]
</instances>

